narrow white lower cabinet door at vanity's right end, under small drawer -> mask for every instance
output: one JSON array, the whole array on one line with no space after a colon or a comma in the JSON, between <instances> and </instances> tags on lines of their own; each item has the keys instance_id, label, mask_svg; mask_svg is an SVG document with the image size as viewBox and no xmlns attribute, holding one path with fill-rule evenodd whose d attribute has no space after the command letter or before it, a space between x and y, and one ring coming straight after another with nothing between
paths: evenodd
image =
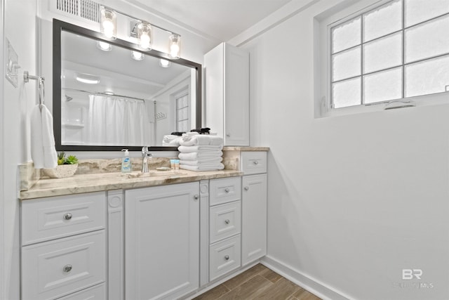
<instances>
[{"instance_id":1,"label":"narrow white lower cabinet door at vanity's right end, under small drawer","mask_svg":"<svg viewBox=\"0 0 449 300\"><path fill-rule=\"evenodd\" d=\"M267 254L267 174L242 178L242 266Z\"/></svg>"}]
</instances>

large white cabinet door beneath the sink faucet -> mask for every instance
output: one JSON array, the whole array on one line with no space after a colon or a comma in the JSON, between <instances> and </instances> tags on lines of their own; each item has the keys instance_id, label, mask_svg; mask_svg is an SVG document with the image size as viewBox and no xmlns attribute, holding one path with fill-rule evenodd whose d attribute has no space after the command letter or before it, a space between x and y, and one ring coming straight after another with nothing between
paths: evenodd
<instances>
[{"instance_id":1,"label":"large white cabinet door beneath the sink faucet","mask_svg":"<svg viewBox=\"0 0 449 300\"><path fill-rule=\"evenodd\" d=\"M127 190L126 299L176 299L199 287L199 183Z\"/></svg>"}]
</instances>

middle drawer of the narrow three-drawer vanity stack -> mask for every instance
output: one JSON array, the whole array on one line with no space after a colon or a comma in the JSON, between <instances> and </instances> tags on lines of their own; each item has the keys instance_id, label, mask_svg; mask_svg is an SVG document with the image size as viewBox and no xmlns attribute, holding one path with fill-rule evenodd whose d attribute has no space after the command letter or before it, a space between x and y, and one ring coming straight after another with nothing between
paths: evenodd
<instances>
[{"instance_id":1,"label":"middle drawer of the narrow three-drawer vanity stack","mask_svg":"<svg viewBox=\"0 0 449 300\"><path fill-rule=\"evenodd\" d=\"M236 235L241 231L241 202L210 207L210 243Z\"/></svg>"}]
</instances>

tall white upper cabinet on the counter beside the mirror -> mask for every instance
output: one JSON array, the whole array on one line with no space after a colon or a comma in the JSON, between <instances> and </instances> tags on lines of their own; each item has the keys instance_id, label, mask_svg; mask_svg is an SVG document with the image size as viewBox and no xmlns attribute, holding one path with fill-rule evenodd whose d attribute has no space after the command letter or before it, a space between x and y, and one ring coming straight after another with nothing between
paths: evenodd
<instances>
[{"instance_id":1,"label":"tall white upper cabinet on the counter beside the mirror","mask_svg":"<svg viewBox=\"0 0 449 300\"><path fill-rule=\"evenodd\" d=\"M206 120L225 145L249 145L249 53L222 43L204 56Z\"/></svg>"}]
</instances>

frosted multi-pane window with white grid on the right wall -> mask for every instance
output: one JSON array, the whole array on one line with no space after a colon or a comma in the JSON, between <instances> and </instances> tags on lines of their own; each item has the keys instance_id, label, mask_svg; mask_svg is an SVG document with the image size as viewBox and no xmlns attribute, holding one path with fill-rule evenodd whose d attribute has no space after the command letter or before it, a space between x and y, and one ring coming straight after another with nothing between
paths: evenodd
<instances>
[{"instance_id":1,"label":"frosted multi-pane window with white grid on the right wall","mask_svg":"<svg viewBox=\"0 0 449 300\"><path fill-rule=\"evenodd\" d=\"M330 26L330 104L449 91L449 0L394 0Z\"/></svg>"}]
</instances>

